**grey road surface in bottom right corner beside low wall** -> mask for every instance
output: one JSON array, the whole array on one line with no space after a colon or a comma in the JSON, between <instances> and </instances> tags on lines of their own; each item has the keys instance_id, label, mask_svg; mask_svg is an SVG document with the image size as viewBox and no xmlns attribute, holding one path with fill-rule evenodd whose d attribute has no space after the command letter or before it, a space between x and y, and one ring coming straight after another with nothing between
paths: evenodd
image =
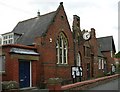
<instances>
[{"instance_id":1,"label":"grey road surface in bottom right corner beside low wall","mask_svg":"<svg viewBox=\"0 0 120 92\"><path fill-rule=\"evenodd\" d=\"M96 87L90 88L88 90L119 90L120 92L120 78L107 82L102 85L98 85Z\"/></svg>"}]
</instances>

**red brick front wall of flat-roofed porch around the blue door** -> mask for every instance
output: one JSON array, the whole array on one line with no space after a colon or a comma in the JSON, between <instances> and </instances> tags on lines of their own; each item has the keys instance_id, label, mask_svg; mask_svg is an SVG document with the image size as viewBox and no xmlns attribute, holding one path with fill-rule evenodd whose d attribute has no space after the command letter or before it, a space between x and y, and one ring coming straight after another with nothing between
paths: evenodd
<instances>
[{"instance_id":1,"label":"red brick front wall of flat-roofed porch around the blue door","mask_svg":"<svg viewBox=\"0 0 120 92\"><path fill-rule=\"evenodd\" d=\"M14 47L14 46L13 46ZM2 74L2 81L16 81L19 83L19 59L32 60L32 86L36 86L40 79L40 61L38 56L19 55L10 53L12 47L3 47L5 60L5 73ZM31 59L32 58L32 59Z\"/></svg>"}]
</instances>

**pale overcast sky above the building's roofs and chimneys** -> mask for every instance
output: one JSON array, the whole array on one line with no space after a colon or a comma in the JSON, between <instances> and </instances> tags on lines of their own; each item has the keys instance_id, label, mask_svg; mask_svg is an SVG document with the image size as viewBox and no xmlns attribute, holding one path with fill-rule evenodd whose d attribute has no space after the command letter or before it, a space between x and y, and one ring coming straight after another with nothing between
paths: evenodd
<instances>
[{"instance_id":1,"label":"pale overcast sky above the building's roofs and chimneys","mask_svg":"<svg viewBox=\"0 0 120 92\"><path fill-rule=\"evenodd\" d=\"M0 0L0 34L10 32L19 21L55 11L63 2L70 26L73 15L80 17L81 29L96 29L97 37L113 36L118 49L119 0Z\"/></svg>"}]
</instances>

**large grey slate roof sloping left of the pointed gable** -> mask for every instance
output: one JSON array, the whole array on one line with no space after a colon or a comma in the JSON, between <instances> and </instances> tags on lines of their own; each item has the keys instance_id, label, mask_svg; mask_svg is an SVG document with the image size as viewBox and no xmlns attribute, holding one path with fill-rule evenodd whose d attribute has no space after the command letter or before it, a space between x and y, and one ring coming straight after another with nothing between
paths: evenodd
<instances>
[{"instance_id":1,"label":"large grey slate roof sloping left of the pointed gable","mask_svg":"<svg viewBox=\"0 0 120 92\"><path fill-rule=\"evenodd\" d=\"M42 36L46 33L56 12L51 12L25 21L21 21L12 32L22 34L17 44L32 45L35 37Z\"/></svg>"}]
</instances>

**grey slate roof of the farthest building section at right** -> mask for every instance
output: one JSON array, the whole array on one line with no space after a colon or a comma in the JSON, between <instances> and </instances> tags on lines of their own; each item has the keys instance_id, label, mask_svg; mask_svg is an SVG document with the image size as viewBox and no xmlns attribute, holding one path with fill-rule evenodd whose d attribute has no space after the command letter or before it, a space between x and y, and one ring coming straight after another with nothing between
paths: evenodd
<instances>
[{"instance_id":1,"label":"grey slate roof of the farthest building section at right","mask_svg":"<svg viewBox=\"0 0 120 92\"><path fill-rule=\"evenodd\" d=\"M100 37L97 38L101 51L115 51L115 44L113 40L113 36L107 36L107 37Z\"/></svg>"}]
</instances>

